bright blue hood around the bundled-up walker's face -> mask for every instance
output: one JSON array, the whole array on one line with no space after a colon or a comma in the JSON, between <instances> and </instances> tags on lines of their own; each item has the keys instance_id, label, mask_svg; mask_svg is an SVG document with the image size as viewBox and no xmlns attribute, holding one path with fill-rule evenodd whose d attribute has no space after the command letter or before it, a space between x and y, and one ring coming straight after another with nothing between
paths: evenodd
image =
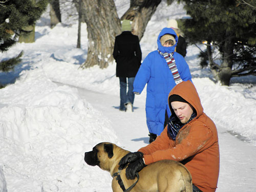
<instances>
[{"instance_id":1,"label":"bright blue hood around the bundled-up walker's face","mask_svg":"<svg viewBox=\"0 0 256 192\"><path fill-rule=\"evenodd\" d=\"M163 47L161 45L161 41L160 38L165 35L165 34L171 34L175 37L176 40L176 44L172 47ZM177 42L178 42L178 37L177 34L175 33L175 31L171 28L163 28L162 31L159 33L158 38L157 38L157 45L158 45L158 49L159 51L161 51L162 53L172 53L175 51L175 47L177 46Z\"/></svg>"}]
</instances>

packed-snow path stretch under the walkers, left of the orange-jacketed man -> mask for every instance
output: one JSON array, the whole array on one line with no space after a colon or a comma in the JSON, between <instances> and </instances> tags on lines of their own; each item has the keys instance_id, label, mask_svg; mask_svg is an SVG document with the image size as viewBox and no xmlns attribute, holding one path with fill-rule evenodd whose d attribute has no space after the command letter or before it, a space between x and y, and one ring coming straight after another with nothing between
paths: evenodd
<instances>
[{"instance_id":1,"label":"packed-snow path stretch under the walkers, left of the orange-jacketed man","mask_svg":"<svg viewBox=\"0 0 256 192\"><path fill-rule=\"evenodd\" d=\"M135 98L134 112L125 113L119 111L119 97L115 95L79 88L78 92L81 98L86 99L95 109L103 112L110 119L121 147L133 152L148 144L144 103L137 102Z\"/></svg>"}]
</instances>

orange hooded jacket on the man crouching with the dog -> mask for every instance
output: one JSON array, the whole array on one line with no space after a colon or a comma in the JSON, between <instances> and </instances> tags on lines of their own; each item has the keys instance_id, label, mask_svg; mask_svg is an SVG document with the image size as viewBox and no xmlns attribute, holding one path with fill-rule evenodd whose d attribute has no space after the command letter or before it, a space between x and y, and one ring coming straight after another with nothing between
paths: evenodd
<instances>
[{"instance_id":1,"label":"orange hooded jacket on the man crouching with the dog","mask_svg":"<svg viewBox=\"0 0 256 192\"><path fill-rule=\"evenodd\" d=\"M193 184L204 192L217 188L220 153L218 133L215 123L203 112L203 107L194 84L183 81L170 91L170 95L179 95L196 110L197 116L185 124L174 141L169 137L167 126L151 144L140 148L145 164L162 159L171 159L183 163L192 175ZM172 114L175 114L170 106Z\"/></svg>"}]
</instances>

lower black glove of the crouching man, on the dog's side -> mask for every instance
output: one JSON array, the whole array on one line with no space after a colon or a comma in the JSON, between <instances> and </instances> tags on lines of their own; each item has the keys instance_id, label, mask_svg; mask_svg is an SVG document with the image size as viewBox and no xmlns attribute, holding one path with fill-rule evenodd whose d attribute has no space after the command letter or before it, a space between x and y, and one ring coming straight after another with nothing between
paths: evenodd
<instances>
[{"instance_id":1,"label":"lower black glove of the crouching man, on the dog's side","mask_svg":"<svg viewBox=\"0 0 256 192\"><path fill-rule=\"evenodd\" d=\"M126 178L135 179L136 173L139 172L144 166L146 165L142 158L130 163L126 168Z\"/></svg>"}]
</instances>

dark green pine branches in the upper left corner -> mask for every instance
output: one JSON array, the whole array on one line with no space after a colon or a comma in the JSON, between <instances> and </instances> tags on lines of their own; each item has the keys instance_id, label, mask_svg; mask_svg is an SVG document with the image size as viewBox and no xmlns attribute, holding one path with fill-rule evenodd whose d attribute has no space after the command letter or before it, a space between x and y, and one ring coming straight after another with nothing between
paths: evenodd
<instances>
[{"instance_id":1,"label":"dark green pine branches in the upper left corner","mask_svg":"<svg viewBox=\"0 0 256 192\"><path fill-rule=\"evenodd\" d=\"M33 26L46 9L48 0L0 1L0 51L7 51L17 42L17 37L28 26ZM10 71L20 62L17 57L0 62L0 71Z\"/></svg>"}]
</instances>

